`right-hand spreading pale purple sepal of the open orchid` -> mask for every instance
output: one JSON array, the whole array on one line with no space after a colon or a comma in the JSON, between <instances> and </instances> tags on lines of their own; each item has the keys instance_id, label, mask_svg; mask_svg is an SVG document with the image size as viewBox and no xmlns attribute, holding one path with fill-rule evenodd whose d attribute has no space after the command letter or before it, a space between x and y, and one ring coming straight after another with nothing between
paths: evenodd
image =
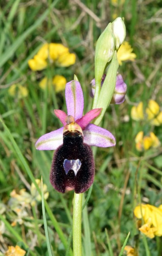
<instances>
[{"instance_id":1,"label":"right-hand spreading pale purple sepal of the open orchid","mask_svg":"<svg viewBox=\"0 0 162 256\"><path fill-rule=\"evenodd\" d=\"M89 124L83 131L84 143L90 146L97 147L112 147L115 146L115 138L108 130Z\"/></svg>"}]
</instances>

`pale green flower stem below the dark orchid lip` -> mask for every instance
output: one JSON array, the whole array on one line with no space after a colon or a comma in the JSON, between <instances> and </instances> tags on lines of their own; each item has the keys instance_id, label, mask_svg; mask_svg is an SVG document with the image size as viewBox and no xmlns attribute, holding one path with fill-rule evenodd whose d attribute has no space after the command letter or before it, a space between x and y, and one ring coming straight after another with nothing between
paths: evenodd
<instances>
[{"instance_id":1,"label":"pale green flower stem below the dark orchid lip","mask_svg":"<svg viewBox=\"0 0 162 256\"><path fill-rule=\"evenodd\" d=\"M73 205L73 256L82 256L82 197L75 194Z\"/></svg>"}]
</instances>

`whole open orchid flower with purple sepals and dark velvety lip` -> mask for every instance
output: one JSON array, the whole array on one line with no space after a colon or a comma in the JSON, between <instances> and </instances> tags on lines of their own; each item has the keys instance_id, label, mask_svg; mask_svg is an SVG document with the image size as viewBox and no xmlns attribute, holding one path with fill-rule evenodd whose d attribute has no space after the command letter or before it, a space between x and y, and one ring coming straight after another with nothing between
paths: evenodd
<instances>
[{"instance_id":1,"label":"whole open orchid flower with purple sepals and dark velvety lip","mask_svg":"<svg viewBox=\"0 0 162 256\"><path fill-rule=\"evenodd\" d=\"M44 134L36 142L37 150L56 150L50 182L59 192L74 189L83 193L94 181L95 165L90 146L111 147L115 138L106 129L90 122L101 113L101 108L90 110L83 116L83 91L78 81L66 84L67 114L54 110L63 127Z\"/></svg>"}]
</instances>

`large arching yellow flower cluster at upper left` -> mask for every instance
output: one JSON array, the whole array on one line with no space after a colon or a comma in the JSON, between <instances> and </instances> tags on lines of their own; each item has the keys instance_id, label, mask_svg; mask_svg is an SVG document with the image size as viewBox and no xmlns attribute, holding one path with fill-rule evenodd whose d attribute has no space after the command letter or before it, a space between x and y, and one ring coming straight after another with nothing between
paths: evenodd
<instances>
[{"instance_id":1,"label":"large arching yellow flower cluster at upper left","mask_svg":"<svg viewBox=\"0 0 162 256\"><path fill-rule=\"evenodd\" d=\"M69 49L62 44L44 44L33 59L28 61L30 68L34 71L47 67L48 62L55 63L59 67L69 67L75 63L76 56L69 53Z\"/></svg>"}]
</instances>

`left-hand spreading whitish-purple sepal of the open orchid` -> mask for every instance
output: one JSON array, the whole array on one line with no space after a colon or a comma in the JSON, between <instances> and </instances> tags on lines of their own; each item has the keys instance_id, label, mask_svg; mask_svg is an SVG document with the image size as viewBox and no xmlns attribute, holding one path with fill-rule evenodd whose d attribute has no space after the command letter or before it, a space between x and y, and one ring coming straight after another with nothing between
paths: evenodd
<instances>
[{"instance_id":1,"label":"left-hand spreading whitish-purple sepal of the open orchid","mask_svg":"<svg viewBox=\"0 0 162 256\"><path fill-rule=\"evenodd\" d=\"M63 144L63 129L64 127L61 127L55 131L51 131L41 136L35 143L36 149L55 150L58 148Z\"/></svg>"}]
</instances>

